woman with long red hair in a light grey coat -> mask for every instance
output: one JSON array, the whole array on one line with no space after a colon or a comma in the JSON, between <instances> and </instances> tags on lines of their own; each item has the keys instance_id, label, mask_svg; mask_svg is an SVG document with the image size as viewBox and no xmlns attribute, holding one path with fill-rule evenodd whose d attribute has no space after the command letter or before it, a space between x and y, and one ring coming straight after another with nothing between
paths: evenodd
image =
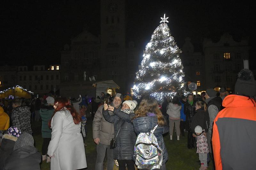
<instances>
[{"instance_id":1,"label":"woman with long red hair in a light grey coat","mask_svg":"<svg viewBox=\"0 0 256 170\"><path fill-rule=\"evenodd\" d=\"M54 102L54 113L49 121L52 138L47 154L51 170L82 169L87 167L81 131L81 117L65 97Z\"/></svg>"}]
</instances>

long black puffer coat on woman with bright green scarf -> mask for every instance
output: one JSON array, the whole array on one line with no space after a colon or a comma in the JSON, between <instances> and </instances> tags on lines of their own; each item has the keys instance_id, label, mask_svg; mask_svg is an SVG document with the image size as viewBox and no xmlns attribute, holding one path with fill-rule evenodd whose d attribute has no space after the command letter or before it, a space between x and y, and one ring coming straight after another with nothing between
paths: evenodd
<instances>
[{"instance_id":1,"label":"long black puffer coat on woman with bright green scarf","mask_svg":"<svg viewBox=\"0 0 256 170\"><path fill-rule=\"evenodd\" d=\"M184 114L186 115L186 129L191 130L193 116L196 113L196 101L190 105L188 102L184 104Z\"/></svg>"}]
</instances>

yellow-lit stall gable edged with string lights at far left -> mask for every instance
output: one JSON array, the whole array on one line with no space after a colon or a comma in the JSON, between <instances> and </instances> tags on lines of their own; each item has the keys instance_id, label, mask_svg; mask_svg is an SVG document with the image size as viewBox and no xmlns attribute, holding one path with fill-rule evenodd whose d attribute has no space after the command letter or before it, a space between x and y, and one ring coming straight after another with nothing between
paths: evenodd
<instances>
[{"instance_id":1,"label":"yellow-lit stall gable edged with string lights at far left","mask_svg":"<svg viewBox=\"0 0 256 170\"><path fill-rule=\"evenodd\" d=\"M27 90L19 85L14 86L12 88L5 89L3 91L0 91L0 98L6 98L9 96L13 97L24 97L24 98L31 98L31 95L34 93L30 90Z\"/></svg>"}]
</instances>

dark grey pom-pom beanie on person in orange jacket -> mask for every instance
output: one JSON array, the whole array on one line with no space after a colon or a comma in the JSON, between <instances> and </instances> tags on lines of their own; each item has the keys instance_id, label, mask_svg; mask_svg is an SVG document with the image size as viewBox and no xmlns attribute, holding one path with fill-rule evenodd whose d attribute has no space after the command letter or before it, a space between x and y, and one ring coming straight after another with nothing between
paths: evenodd
<instances>
[{"instance_id":1,"label":"dark grey pom-pom beanie on person in orange jacket","mask_svg":"<svg viewBox=\"0 0 256 170\"><path fill-rule=\"evenodd\" d=\"M256 81L254 75L249 69L242 69L238 74L235 85L235 94L245 96L256 95Z\"/></svg>"}]
</instances>

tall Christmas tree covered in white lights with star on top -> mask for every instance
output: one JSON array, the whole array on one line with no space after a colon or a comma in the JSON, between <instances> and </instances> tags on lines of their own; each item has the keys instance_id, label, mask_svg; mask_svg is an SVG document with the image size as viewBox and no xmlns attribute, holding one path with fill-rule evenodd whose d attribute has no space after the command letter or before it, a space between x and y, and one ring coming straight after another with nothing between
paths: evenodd
<instances>
[{"instance_id":1,"label":"tall Christmas tree covered in white lights with star on top","mask_svg":"<svg viewBox=\"0 0 256 170\"><path fill-rule=\"evenodd\" d=\"M182 51L176 45L165 23L168 23L167 18L165 14L164 18L161 17L160 25L146 45L133 86L133 93L137 98L143 94L150 94L158 101L162 101L164 96L174 96L183 90L182 77L185 74L180 60Z\"/></svg>"}]
</instances>

